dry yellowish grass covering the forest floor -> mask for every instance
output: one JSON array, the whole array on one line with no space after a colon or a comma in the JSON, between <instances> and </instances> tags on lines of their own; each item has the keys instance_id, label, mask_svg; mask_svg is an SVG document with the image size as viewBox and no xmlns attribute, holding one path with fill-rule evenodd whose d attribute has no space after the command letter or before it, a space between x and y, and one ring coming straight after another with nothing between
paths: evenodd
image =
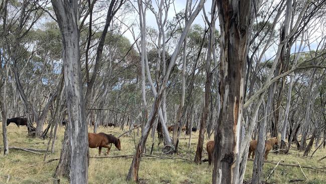
<instances>
[{"instance_id":1,"label":"dry yellowish grass covering the forest floor","mask_svg":"<svg viewBox=\"0 0 326 184\"><path fill-rule=\"evenodd\" d=\"M8 126L9 146L28 147L37 149L46 149L49 139L42 140L27 136L27 128L21 126L18 128L14 123ZM0 126L2 133L2 127ZM92 132L92 128L89 128ZM100 127L98 132L105 132L115 136L120 135L123 131L116 128ZM60 150L64 137L64 128L59 127L58 137L55 142L55 152L48 154L47 160L60 157ZM180 153L175 157L183 157L190 160L194 159L197 148L199 131L193 134L191 148L188 149L188 139L184 139L182 135L180 140ZM156 135L155 135L156 136ZM139 136L135 133L124 135L121 140L121 151L118 151L114 145L109 153L113 155L128 155L134 154L135 142L137 143ZM157 138L154 144L153 154L158 155L161 152L162 144L157 146ZM213 139L213 136L212 138ZM53 173L56 169L58 161L49 163L43 162L44 154L34 154L20 150L10 149L9 155L3 155L3 136L0 136L1 154L0 154L0 183L53 183ZM206 152L205 138L203 159L208 158ZM150 152L152 138L147 139L147 153ZM314 147L313 147L314 150ZM107 149L102 149L101 156ZM317 161L319 158L326 156L326 149L319 149L312 158L302 157L303 152L296 151L291 148L288 155L270 153L268 160L278 162L283 160L283 164L300 164L311 167L326 167L326 159ZM98 156L98 148L90 149L90 156ZM89 162L88 177L89 183L128 183L125 181L132 157L130 158L91 158ZM263 178L266 179L270 172L275 167L275 164L265 163ZM208 165L208 162L203 162L200 165L194 162L181 159L143 159L139 169L139 183L211 183L213 167ZM325 170L325 169L324 169ZM304 176L304 174L305 176ZM252 174L252 161L248 161L245 181L250 180ZM305 178L306 177L306 178ZM302 181L291 182L293 179L301 179ZM316 171L313 169L299 167L290 167L278 165L274 173L265 180L266 183L326 183L325 172ZM60 183L68 183L67 179L61 178ZM130 182L133 183L133 182Z\"/></svg>"}]
</instances>

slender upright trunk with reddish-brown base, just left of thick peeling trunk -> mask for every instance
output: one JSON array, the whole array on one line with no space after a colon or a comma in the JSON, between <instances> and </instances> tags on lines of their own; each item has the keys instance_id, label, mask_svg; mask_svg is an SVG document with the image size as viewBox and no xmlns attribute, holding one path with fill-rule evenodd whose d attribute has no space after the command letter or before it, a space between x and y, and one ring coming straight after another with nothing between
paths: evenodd
<instances>
[{"instance_id":1,"label":"slender upright trunk with reddish-brown base, just left of thick peeling trunk","mask_svg":"<svg viewBox=\"0 0 326 184\"><path fill-rule=\"evenodd\" d=\"M203 8L205 13L205 8ZM217 16L217 9L215 1L212 1L211 6L211 20L205 14L206 22L209 25L209 40L208 40L208 51L207 51L207 58L206 58L206 82L205 82L205 95L204 95L204 108L202 119L200 122L200 129L199 129L199 137L197 143L197 149L195 154L195 163L199 164L202 162L202 152L203 152L203 145L204 145L204 138L205 138L205 129L206 129L206 122L209 113L209 105L210 103L210 94L211 94L211 84L212 84L212 72L211 72L211 61L212 61L212 53L214 52L214 40L215 40L215 20ZM211 109L213 111L213 109Z\"/></svg>"}]
</instances>

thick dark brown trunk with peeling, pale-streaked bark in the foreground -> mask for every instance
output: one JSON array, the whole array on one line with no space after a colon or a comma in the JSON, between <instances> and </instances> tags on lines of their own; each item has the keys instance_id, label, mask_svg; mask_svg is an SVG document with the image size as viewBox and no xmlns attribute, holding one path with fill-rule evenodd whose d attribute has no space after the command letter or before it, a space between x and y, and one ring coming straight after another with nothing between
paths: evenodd
<instances>
[{"instance_id":1,"label":"thick dark brown trunk with peeling, pale-streaked bark in the foreground","mask_svg":"<svg viewBox=\"0 0 326 184\"><path fill-rule=\"evenodd\" d=\"M216 1L221 27L221 111L215 135L213 183L240 182L240 129L252 1Z\"/></svg>"}]
</instances>

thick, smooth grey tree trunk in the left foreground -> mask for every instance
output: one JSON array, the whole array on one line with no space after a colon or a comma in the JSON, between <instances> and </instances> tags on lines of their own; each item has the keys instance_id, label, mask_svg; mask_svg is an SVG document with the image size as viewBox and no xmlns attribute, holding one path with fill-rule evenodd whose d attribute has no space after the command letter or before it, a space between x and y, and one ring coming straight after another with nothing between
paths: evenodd
<instances>
[{"instance_id":1,"label":"thick, smooth grey tree trunk in the left foreground","mask_svg":"<svg viewBox=\"0 0 326 184\"><path fill-rule=\"evenodd\" d=\"M71 183L88 182L88 138L80 67L78 1L52 0L63 44L63 67L71 145Z\"/></svg>"}]
</instances>

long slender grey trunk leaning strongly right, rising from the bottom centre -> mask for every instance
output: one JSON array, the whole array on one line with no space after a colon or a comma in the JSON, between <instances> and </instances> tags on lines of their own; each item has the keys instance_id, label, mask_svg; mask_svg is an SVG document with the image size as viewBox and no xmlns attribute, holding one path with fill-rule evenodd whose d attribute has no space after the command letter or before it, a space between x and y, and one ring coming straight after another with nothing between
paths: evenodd
<instances>
[{"instance_id":1,"label":"long slender grey trunk leaning strongly right, rising from the bottom centre","mask_svg":"<svg viewBox=\"0 0 326 184\"><path fill-rule=\"evenodd\" d=\"M205 2L205 0L201 0L198 3L198 6L197 6L196 10L189 17L189 22L185 25L184 31L181 34L181 37L180 37L180 39L178 41L178 44L177 44L177 47L174 50L174 52L173 52L173 54L172 54L172 56L170 58L170 63L169 63L169 66L167 68L167 72L164 75L164 78L162 79L162 83L158 88L157 94L154 96L154 103L152 105L152 109L151 109L149 118L147 120L146 126L145 126L145 128L144 128L144 130L142 132L142 135L140 137L140 140L138 142L138 146L136 148L136 153L135 153L135 155L134 155L134 157L132 159L132 162L131 162L131 165L130 165L130 168L129 168L129 171L128 171L128 175L126 177L126 180L134 180L134 181L138 180L138 170L139 170L139 167L140 167L140 159L141 159L141 156L142 156L142 153L143 153L143 150L144 150L144 146L145 146L149 131L150 131L150 129L151 129L153 123L154 123L156 113L157 113L157 111L159 109L159 103L160 103L161 98L162 98L162 92L166 88L166 85L167 85L168 80L170 78L171 70L172 70L174 64L176 63L177 56L178 56L178 54L179 54L179 52L181 50L182 43L184 42L184 40L186 38L187 32L189 31L191 24L193 23L193 21L195 20L195 18L197 17L197 15L201 11L201 9L203 8L204 2ZM139 4L142 7L142 2L140 0L138 1L138 6L139 6Z\"/></svg>"}]
</instances>

